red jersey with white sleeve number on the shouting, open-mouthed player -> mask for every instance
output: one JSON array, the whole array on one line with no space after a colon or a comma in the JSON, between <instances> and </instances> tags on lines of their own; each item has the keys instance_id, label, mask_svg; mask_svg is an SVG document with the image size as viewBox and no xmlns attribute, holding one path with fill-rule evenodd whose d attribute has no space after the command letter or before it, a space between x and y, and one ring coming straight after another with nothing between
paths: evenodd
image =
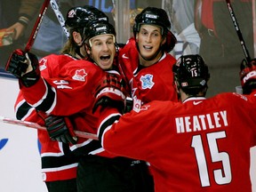
<instances>
[{"instance_id":1,"label":"red jersey with white sleeve number on the shouting, open-mouthed player","mask_svg":"<svg viewBox=\"0 0 256 192\"><path fill-rule=\"evenodd\" d=\"M108 71L117 73L116 71ZM68 62L58 76L41 77L36 84L25 87L20 84L20 91L28 104L37 110L56 116L68 116L75 130L97 133L99 114L92 114L96 87L106 76L106 72L88 60ZM78 138L70 149L77 155L98 155L114 157L100 146L99 140Z\"/></svg>"}]
</instances>

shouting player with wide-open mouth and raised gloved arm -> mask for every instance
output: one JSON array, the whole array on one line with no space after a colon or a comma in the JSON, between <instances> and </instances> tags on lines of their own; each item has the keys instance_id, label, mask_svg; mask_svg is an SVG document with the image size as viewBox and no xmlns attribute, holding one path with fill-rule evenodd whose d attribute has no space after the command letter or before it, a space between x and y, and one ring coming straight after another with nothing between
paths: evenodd
<instances>
[{"instance_id":1,"label":"shouting player with wide-open mouth and raised gloved arm","mask_svg":"<svg viewBox=\"0 0 256 192\"><path fill-rule=\"evenodd\" d=\"M27 54L19 50L12 53L6 70L19 78L24 98L36 110L68 116L77 130L96 133L99 113L92 113L95 87L102 78L104 84L121 84L122 76L118 75L113 64L116 56L115 28L107 21L97 21L86 25L84 32L89 60L69 62L60 69L58 78L40 76L38 64L31 53L25 57ZM100 97L106 98L105 93L102 92ZM84 155L78 164L78 191L148 192L144 182L148 169L140 161L109 154L101 148L99 140L78 138L70 148L76 154Z\"/></svg>"}]
</instances>

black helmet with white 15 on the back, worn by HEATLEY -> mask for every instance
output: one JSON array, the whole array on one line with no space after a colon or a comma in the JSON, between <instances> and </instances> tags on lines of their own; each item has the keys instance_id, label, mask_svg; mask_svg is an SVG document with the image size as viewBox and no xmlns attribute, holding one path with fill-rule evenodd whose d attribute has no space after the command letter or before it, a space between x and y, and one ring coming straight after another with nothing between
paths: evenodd
<instances>
[{"instance_id":1,"label":"black helmet with white 15 on the back, worn by HEATLEY","mask_svg":"<svg viewBox=\"0 0 256 192\"><path fill-rule=\"evenodd\" d=\"M195 95L207 88L210 74L203 58L198 54L181 56L173 65L172 71L178 87L187 94Z\"/></svg>"}]
</instances>

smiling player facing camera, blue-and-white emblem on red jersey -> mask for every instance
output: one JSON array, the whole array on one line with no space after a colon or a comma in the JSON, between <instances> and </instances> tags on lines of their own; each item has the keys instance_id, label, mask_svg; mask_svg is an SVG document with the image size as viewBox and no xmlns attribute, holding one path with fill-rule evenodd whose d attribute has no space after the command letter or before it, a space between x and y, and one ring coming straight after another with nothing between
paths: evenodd
<instances>
[{"instance_id":1,"label":"smiling player facing camera, blue-and-white emblem on red jersey","mask_svg":"<svg viewBox=\"0 0 256 192\"><path fill-rule=\"evenodd\" d=\"M132 97L142 103L178 101L172 81L172 65L176 60L168 54L176 44L176 38L170 29L171 22L163 9L147 7L135 18L134 37L120 50L120 68L132 90Z\"/></svg>"}]
</instances>

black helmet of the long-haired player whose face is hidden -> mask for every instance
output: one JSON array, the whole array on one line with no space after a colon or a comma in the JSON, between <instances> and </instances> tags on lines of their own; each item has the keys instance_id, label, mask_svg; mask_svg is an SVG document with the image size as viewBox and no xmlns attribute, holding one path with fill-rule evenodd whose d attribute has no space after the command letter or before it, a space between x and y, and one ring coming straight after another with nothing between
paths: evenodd
<instances>
[{"instance_id":1,"label":"black helmet of the long-haired player whose face is hidden","mask_svg":"<svg viewBox=\"0 0 256 192\"><path fill-rule=\"evenodd\" d=\"M84 28L92 20L108 21L108 16L91 5L77 6L69 9L65 26L67 28Z\"/></svg>"}]
</instances>

